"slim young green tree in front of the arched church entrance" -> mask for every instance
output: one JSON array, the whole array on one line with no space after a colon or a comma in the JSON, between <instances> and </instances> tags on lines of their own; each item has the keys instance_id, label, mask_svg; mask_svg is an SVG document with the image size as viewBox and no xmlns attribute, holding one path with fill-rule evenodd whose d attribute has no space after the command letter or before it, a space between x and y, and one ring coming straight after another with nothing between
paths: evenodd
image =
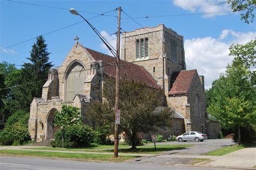
<instances>
[{"instance_id":1,"label":"slim young green tree in front of the arched church entrance","mask_svg":"<svg viewBox=\"0 0 256 170\"><path fill-rule=\"evenodd\" d=\"M62 129L62 147L64 147L65 129L68 126L77 124L82 124L79 108L63 104L62 110L55 112L54 125L60 126L60 129Z\"/></svg>"}]
</instances>

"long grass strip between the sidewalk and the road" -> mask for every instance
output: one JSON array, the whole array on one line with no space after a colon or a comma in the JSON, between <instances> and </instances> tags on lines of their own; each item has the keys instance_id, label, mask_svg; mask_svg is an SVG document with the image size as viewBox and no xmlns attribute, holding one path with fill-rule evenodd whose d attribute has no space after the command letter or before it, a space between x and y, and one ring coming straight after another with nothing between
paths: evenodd
<instances>
[{"instance_id":1,"label":"long grass strip between the sidewalk and the road","mask_svg":"<svg viewBox=\"0 0 256 170\"><path fill-rule=\"evenodd\" d=\"M60 152L46 152L46 151L37 152L37 151L24 151L24 150L0 150L0 155L45 157L45 158L65 158L65 159L110 161L110 162L122 162L127 159L136 158L133 156L126 156L126 155L120 155L118 158L113 158L113 155L104 155L104 154L60 153Z\"/></svg>"}]
</instances>

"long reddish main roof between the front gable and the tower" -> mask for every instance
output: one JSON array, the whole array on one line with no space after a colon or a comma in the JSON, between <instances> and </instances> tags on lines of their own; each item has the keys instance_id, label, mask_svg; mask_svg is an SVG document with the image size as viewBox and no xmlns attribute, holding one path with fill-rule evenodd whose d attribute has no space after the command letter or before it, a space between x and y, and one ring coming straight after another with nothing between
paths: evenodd
<instances>
[{"instance_id":1,"label":"long reddish main roof between the front gable and the tower","mask_svg":"<svg viewBox=\"0 0 256 170\"><path fill-rule=\"evenodd\" d=\"M85 48L85 47L84 47ZM116 77L116 58L110 55L106 55L90 48L85 48L89 52L93 59L96 61L103 61L104 74L108 77ZM124 77L127 80L145 83L147 86L152 88L158 88L156 80L150 75L149 72L142 66L135 65L134 63L120 60L120 77Z\"/></svg>"}]
</instances>

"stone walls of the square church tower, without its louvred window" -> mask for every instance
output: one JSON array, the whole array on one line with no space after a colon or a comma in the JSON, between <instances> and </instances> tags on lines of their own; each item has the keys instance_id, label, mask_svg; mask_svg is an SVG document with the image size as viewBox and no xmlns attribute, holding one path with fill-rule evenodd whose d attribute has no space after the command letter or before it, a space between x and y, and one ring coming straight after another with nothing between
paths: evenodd
<instances>
[{"instance_id":1,"label":"stone walls of the square church tower, without its louvred window","mask_svg":"<svg viewBox=\"0 0 256 170\"><path fill-rule=\"evenodd\" d=\"M136 59L136 40L145 37L149 38L149 57ZM164 39L165 43L163 44ZM175 45L173 41L176 41ZM177 49L175 53L178 58L177 61L171 58L174 48ZM163 59L163 52L166 53L165 59ZM164 76L165 94L167 96L170 88L169 79L172 73L186 68L183 36L179 36L173 30L167 29L163 24L126 32L125 36L123 36L122 59L143 66L161 87L163 87Z\"/></svg>"}]
</instances>

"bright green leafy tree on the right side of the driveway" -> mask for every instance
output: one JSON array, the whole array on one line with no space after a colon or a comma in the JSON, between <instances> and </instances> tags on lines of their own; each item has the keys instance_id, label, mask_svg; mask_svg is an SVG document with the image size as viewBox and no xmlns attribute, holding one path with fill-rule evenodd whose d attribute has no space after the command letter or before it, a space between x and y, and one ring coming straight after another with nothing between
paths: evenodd
<instances>
[{"instance_id":1,"label":"bright green leafy tree on the right side of the driveway","mask_svg":"<svg viewBox=\"0 0 256 170\"><path fill-rule=\"evenodd\" d=\"M245 45L232 45L230 55L234 55L225 74L214 81L207 108L221 121L221 128L230 130L249 127L256 123L255 70L251 70L255 60L255 40ZM238 132L238 136L240 134ZM238 138L240 143L240 138Z\"/></svg>"}]
</instances>

